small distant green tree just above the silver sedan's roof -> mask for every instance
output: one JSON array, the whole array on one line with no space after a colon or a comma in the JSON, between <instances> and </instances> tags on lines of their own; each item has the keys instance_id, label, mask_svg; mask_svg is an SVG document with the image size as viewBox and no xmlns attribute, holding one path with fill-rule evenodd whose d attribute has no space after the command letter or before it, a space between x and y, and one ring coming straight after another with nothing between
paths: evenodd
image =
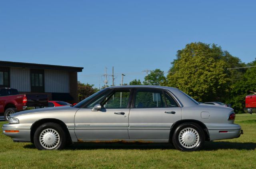
<instances>
[{"instance_id":1,"label":"small distant green tree just above the silver sedan's roof","mask_svg":"<svg viewBox=\"0 0 256 169\"><path fill-rule=\"evenodd\" d=\"M164 76L164 71L161 71L160 69L152 70L150 71L150 74L148 76L145 76L144 78L144 85L162 85L166 81L166 78Z\"/></svg>"}]
</instances>

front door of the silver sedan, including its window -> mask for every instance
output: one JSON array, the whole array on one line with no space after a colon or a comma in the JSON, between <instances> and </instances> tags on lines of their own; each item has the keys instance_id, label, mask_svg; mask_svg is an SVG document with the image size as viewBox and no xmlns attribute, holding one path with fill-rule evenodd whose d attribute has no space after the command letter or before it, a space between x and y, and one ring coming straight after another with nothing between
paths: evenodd
<instances>
[{"instance_id":1,"label":"front door of the silver sedan, including its window","mask_svg":"<svg viewBox=\"0 0 256 169\"><path fill-rule=\"evenodd\" d=\"M130 89L113 90L89 103L75 115L75 132L80 141L127 140ZM92 111L100 103L102 109Z\"/></svg>"}]
</instances>

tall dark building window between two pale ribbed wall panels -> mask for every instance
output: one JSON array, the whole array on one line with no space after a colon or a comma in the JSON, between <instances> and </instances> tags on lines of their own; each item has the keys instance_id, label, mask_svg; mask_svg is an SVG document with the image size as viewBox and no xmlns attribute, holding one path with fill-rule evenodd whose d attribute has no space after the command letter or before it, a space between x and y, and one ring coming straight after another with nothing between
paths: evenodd
<instances>
[{"instance_id":1,"label":"tall dark building window between two pale ribbed wall panels","mask_svg":"<svg viewBox=\"0 0 256 169\"><path fill-rule=\"evenodd\" d=\"M44 70L30 70L32 92L44 92Z\"/></svg>"}]
</instances>

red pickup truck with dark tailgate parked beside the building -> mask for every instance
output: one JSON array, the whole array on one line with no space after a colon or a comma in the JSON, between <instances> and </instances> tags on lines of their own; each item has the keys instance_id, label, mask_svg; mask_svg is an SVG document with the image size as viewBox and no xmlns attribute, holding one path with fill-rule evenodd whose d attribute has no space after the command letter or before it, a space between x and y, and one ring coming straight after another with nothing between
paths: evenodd
<instances>
[{"instance_id":1,"label":"red pickup truck with dark tailgate parked beside the building","mask_svg":"<svg viewBox=\"0 0 256 169\"><path fill-rule=\"evenodd\" d=\"M0 114L9 120L12 113L26 110L27 107L47 107L48 97L45 94L19 94L17 89L0 88Z\"/></svg>"}]
</instances>

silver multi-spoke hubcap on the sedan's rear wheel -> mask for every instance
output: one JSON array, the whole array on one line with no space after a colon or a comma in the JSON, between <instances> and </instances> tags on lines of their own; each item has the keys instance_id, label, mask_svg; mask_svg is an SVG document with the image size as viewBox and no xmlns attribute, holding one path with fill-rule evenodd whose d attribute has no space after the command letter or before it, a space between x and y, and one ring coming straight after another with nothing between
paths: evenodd
<instances>
[{"instance_id":1,"label":"silver multi-spoke hubcap on the sedan's rear wheel","mask_svg":"<svg viewBox=\"0 0 256 169\"><path fill-rule=\"evenodd\" d=\"M193 128L190 128L190 127L185 128L182 131L180 131L179 141L183 147L191 149L193 147L196 147L196 145L198 145L199 134Z\"/></svg>"}]
</instances>

